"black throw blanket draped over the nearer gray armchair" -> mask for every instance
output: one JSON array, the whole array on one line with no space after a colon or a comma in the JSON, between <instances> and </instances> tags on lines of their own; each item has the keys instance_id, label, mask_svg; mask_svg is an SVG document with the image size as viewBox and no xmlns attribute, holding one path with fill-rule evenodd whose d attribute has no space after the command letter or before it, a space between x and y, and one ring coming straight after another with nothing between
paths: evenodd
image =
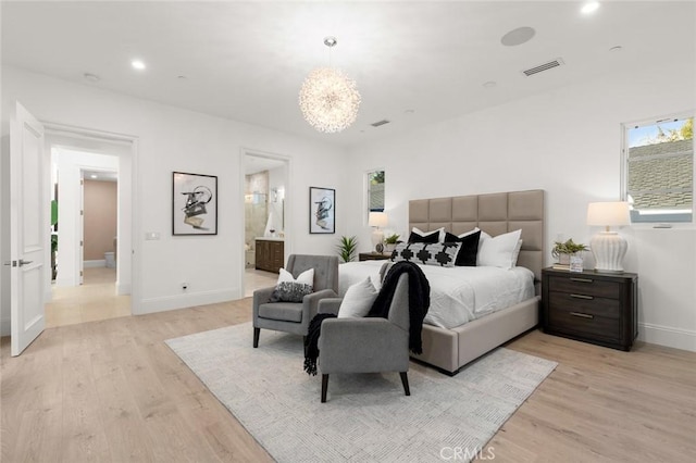
<instances>
[{"instance_id":1,"label":"black throw blanket draped over the nearer gray armchair","mask_svg":"<svg viewBox=\"0 0 696 463\"><path fill-rule=\"evenodd\" d=\"M421 331L423 329L423 318L425 318L431 305L431 285L425 275L423 275L423 271L417 264L397 262L389 268L382 284L382 289L366 316L388 317L396 286L399 277L405 273L409 275L409 349L413 353L422 353ZM319 337L321 336L322 322L334 317L336 317L334 314L319 313L309 324L307 337L304 338L304 371L310 375L316 375Z\"/></svg>"}]
</instances>

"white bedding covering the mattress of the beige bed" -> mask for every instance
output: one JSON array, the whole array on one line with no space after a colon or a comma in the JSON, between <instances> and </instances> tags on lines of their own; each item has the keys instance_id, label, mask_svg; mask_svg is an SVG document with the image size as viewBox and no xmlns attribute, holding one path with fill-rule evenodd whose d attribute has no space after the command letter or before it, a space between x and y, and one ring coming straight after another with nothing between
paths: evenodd
<instances>
[{"instance_id":1,"label":"white bedding covering the mattress of the beige bed","mask_svg":"<svg viewBox=\"0 0 696 463\"><path fill-rule=\"evenodd\" d=\"M373 276L378 280L385 261L340 264L338 291ZM525 267L439 267L419 265L431 285L431 308L424 323L453 328L534 297L534 274Z\"/></svg>"}]
</instances>

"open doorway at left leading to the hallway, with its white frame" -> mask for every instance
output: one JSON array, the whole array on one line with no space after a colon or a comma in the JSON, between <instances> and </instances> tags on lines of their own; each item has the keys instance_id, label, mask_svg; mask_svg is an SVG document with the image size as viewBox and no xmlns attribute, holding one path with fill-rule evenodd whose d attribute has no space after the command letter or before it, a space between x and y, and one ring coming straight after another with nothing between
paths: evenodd
<instances>
[{"instance_id":1,"label":"open doorway at left leading to the hallway, with its white frame","mask_svg":"<svg viewBox=\"0 0 696 463\"><path fill-rule=\"evenodd\" d=\"M130 315L134 147L64 132L48 132L47 146L57 223L46 325Z\"/></svg>"}]
</instances>

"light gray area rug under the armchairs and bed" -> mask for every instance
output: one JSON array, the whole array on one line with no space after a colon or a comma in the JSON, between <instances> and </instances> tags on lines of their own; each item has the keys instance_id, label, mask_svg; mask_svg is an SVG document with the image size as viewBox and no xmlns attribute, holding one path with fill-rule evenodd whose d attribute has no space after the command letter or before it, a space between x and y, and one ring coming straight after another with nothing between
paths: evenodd
<instances>
[{"instance_id":1,"label":"light gray area rug under the armchairs and bed","mask_svg":"<svg viewBox=\"0 0 696 463\"><path fill-rule=\"evenodd\" d=\"M166 341L278 462L469 461L554 371L556 362L498 348L453 377L409 371L321 376L302 370L302 338L249 323Z\"/></svg>"}]
</instances>

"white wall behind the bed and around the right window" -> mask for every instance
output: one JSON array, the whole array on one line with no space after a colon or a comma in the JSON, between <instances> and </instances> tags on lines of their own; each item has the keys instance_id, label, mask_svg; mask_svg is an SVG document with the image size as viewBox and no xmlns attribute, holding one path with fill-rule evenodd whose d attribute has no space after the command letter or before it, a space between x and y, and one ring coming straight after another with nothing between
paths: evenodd
<instances>
[{"instance_id":1,"label":"white wall behind the bed and around the right window","mask_svg":"<svg viewBox=\"0 0 696 463\"><path fill-rule=\"evenodd\" d=\"M349 153L350 188L362 197L364 172L384 166L389 227L401 232L410 199L542 188L550 264L559 235L587 243L597 232L585 223L588 202L619 199L620 124L693 111L694 82L693 62L616 73L368 143ZM361 204L345 208L368 250ZM696 351L693 224L623 233L624 267L639 274L639 338Z\"/></svg>"}]
</instances>

